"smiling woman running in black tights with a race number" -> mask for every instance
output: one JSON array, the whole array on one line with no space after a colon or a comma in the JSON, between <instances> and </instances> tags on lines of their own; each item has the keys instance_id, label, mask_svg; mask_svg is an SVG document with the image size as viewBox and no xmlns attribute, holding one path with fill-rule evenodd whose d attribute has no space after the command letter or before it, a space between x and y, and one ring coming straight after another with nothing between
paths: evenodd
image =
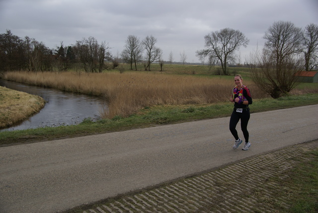
<instances>
[{"instance_id":1,"label":"smiling woman running in black tights with a race number","mask_svg":"<svg viewBox=\"0 0 318 213\"><path fill-rule=\"evenodd\" d=\"M231 102L234 103L234 110L230 119L230 131L235 138L235 144L233 148L239 147L242 143L242 139L239 138L236 126L240 119L240 127L244 135L245 145L242 150L248 150L250 147L250 142L248 140L249 134L247 131L247 123L250 117L248 105L252 104L252 96L246 86L243 85L243 79L240 75L236 75L234 78L236 87L232 90L233 97Z\"/></svg>"}]
</instances>

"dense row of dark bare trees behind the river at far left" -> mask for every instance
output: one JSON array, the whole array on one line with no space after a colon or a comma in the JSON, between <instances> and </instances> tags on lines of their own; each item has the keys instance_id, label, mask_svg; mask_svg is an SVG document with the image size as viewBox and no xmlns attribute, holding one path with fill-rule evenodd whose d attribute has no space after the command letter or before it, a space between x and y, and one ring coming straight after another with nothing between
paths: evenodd
<instances>
[{"instance_id":1,"label":"dense row of dark bare trees behind the river at far left","mask_svg":"<svg viewBox=\"0 0 318 213\"><path fill-rule=\"evenodd\" d=\"M10 30L0 34L0 72L13 70L57 71L81 66L86 72L102 72L113 62L106 42L98 43L94 37L83 38L75 45L49 49L33 38L20 38Z\"/></svg>"}]
</instances>

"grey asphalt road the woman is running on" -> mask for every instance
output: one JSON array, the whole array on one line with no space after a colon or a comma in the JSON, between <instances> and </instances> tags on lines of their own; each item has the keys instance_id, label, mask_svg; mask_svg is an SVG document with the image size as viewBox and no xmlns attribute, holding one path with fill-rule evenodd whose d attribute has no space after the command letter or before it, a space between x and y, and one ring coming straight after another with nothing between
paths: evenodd
<instances>
[{"instance_id":1,"label":"grey asphalt road the woman is running on","mask_svg":"<svg viewBox=\"0 0 318 213\"><path fill-rule=\"evenodd\" d=\"M317 118L318 105L253 113L248 151L232 149L229 117L1 147L0 212L63 211L315 140Z\"/></svg>"}]
</instances>

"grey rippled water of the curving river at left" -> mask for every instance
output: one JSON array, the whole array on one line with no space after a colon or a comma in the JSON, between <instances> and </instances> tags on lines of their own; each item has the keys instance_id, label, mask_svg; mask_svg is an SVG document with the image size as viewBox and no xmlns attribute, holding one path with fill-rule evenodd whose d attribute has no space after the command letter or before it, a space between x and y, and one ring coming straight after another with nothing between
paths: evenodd
<instances>
[{"instance_id":1,"label":"grey rippled water of the curving river at left","mask_svg":"<svg viewBox=\"0 0 318 213\"><path fill-rule=\"evenodd\" d=\"M0 79L0 86L42 97L47 103L37 114L22 123L0 131L44 126L79 124L85 118L98 119L106 103L100 97L64 92Z\"/></svg>"}]
</instances>

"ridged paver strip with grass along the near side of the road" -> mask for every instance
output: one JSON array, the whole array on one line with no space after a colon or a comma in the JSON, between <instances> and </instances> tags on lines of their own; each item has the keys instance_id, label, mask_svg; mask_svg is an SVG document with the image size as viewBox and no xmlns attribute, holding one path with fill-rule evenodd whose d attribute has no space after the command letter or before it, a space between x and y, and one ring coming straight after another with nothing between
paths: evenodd
<instances>
[{"instance_id":1,"label":"ridged paver strip with grass along the near side of the road","mask_svg":"<svg viewBox=\"0 0 318 213\"><path fill-rule=\"evenodd\" d=\"M318 151L318 140L287 146L171 183L77 207L74 212L290 212L291 199L304 192L301 187L288 184L288 174L300 163L309 164L317 159L311 154L315 150ZM284 187L280 187L282 184Z\"/></svg>"}]
</instances>

